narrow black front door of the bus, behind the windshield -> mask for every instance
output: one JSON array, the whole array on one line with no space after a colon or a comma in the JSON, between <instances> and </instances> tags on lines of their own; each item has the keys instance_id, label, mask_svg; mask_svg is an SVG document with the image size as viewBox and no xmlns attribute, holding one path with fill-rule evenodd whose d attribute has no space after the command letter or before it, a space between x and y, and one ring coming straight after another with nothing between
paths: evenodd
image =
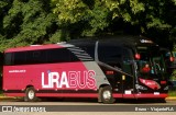
<instances>
[{"instance_id":1,"label":"narrow black front door of the bus, behind the windshield","mask_svg":"<svg viewBox=\"0 0 176 115\"><path fill-rule=\"evenodd\" d=\"M130 48L123 49L123 67L122 70L122 95L123 97L134 97L134 66L133 55Z\"/></svg>"}]
</instances>

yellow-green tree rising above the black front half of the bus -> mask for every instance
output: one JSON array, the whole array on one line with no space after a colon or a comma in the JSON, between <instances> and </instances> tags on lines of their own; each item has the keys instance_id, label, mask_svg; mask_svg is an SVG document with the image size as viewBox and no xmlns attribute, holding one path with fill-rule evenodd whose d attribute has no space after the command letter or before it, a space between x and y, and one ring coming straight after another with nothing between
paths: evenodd
<instances>
[{"instance_id":1,"label":"yellow-green tree rising above the black front half of the bus","mask_svg":"<svg viewBox=\"0 0 176 115\"><path fill-rule=\"evenodd\" d=\"M175 0L52 0L52 3L58 22L69 34L97 35L122 31L154 37L156 42L162 41L158 39L161 36L167 37L163 41L165 43L175 26L175 20L170 21L170 18L176 19L173 16L176 13Z\"/></svg>"}]
</instances>

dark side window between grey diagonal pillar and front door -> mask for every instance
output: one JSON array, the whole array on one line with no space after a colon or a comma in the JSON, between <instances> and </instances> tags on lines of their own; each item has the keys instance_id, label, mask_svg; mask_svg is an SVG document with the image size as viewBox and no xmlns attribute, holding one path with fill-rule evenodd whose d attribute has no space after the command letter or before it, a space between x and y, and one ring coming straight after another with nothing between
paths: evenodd
<instances>
[{"instance_id":1,"label":"dark side window between grey diagonal pillar and front door","mask_svg":"<svg viewBox=\"0 0 176 115\"><path fill-rule=\"evenodd\" d=\"M100 61L108 64L112 67L122 68L122 48L120 46L99 44L98 58Z\"/></svg>"}]
</instances>

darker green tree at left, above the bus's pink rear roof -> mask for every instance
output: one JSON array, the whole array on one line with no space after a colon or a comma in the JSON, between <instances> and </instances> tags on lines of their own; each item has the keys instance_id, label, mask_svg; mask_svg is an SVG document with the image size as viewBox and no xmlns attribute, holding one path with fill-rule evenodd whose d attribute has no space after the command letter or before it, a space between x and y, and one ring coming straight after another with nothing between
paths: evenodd
<instances>
[{"instance_id":1,"label":"darker green tree at left, above the bus's pink rear roof","mask_svg":"<svg viewBox=\"0 0 176 115\"><path fill-rule=\"evenodd\" d=\"M1 4L1 50L59 41L55 38L58 24L48 0L4 0Z\"/></svg>"}]
</instances>

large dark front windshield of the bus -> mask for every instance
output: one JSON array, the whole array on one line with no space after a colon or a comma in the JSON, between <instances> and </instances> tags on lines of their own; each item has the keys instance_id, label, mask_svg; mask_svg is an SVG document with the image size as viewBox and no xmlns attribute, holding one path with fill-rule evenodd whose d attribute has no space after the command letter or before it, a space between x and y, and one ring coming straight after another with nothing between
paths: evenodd
<instances>
[{"instance_id":1,"label":"large dark front windshield of the bus","mask_svg":"<svg viewBox=\"0 0 176 115\"><path fill-rule=\"evenodd\" d=\"M165 64L157 46L139 46L136 60L140 77L148 79L165 73Z\"/></svg>"}]
</instances>

